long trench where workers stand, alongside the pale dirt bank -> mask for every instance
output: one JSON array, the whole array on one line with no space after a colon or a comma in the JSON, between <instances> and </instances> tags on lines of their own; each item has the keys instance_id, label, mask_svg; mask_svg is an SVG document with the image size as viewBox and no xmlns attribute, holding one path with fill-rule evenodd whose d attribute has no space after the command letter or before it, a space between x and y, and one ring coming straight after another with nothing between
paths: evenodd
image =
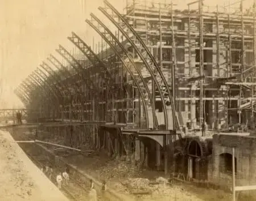
<instances>
[{"instance_id":1,"label":"long trench where workers stand, alongside the pale dirt bank","mask_svg":"<svg viewBox=\"0 0 256 201\"><path fill-rule=\"evenodd\" d=\"M13 136L14 140L34 140L35 136L32 134L24 134L23 132L9 130L10 134ZM18 143L20 148L26 153L32 162L41 170L45 166L52 166L53 174L52 178L48 178L56 185L56 176L58 173L64 172L65 162L61 160L60 156L56 153L49 151L49 149L41 144L37 143ZM61 153L61 152L60 152ZM69 168L69 182L63 182L61 191L70 200L88 200L89 193L89 178L77 172L72 166ZM99 191L95 185L96 190ZM99 193L98 193L99 194ZM98 200L102 200L101 196L98 196ZM110 199L111 200L111 199Z\"/></svg>"}]
</instances>

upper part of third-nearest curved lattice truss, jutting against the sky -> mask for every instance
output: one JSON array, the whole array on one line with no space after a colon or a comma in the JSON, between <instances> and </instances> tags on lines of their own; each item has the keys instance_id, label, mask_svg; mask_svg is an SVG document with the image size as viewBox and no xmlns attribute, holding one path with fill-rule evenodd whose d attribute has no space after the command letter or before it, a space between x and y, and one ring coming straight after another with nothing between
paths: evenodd
<instances>
[{"instance_id":1,"label":"upper part of third-nearest curved lattice truss, jutting against the sky","mask_svg":"<svg viewBox=\"0 0 256 201\"><path fill-rule=\"evenodd\" d=\"M89 61L93 63L93 65L103 67L106 71L106 74L108 74L109 78L111 78L113 81L113 77L109 72L108 67L106 67L105 63L101 61L101 59L98 57L97 54L93 52L90 46L88 46L79 36L77 36L75 32L72 32L72 37L68 37L68 40L76 45L77 48L89 59Z\"/></svg>"}]
</instances>

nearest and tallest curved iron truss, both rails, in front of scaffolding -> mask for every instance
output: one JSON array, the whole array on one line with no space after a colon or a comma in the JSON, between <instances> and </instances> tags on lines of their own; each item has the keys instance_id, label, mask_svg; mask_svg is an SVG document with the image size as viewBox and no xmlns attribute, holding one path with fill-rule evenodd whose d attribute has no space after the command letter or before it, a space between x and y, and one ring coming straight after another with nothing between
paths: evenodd
<instances>
[{"instance_id":1,"label":"nearest and tallest curved iron truss, both rails, in front of scaffolding","mask_svg":"<svg viewBox=\"0 0 256 201\"><path fill-rule=\"evenodd\" d=\"M125 36L127 40L129 40L130 44L136 50L137 54L142 59L144 65L147 67L147 69L150 72L152 78L154 79L154 82L156 84L156 87L158 88L158 91L159 91L159 94L160 94L160 97L161 97L161 100L162 100L162 104L163 104L164 119L165 119L165 122L166 122L166 129L168 129L168 116L167 116L167 110L166 110L166 101L168 101L168 100L164 99L164 95L165 95L166 98L168 97L169 101L171 102L174 129L179 129L179 125L177 124L178 121L177 121L177 117L176 117L174 99L171 95L169 85L166 81L166 78L164 77L163 72L160 70L160 68L158 66L158 63L156 62L153 55L150 53L150 50L148 50L146 44L144 44L141 37L134 30L134 28L131 27L131 25L123 18L123 16L108 1L104 0L104 3L105 3L105 8L99 7L98 9L115 25L115 27L118 28L119 31L122 32L122 35ZM111 11L112 14L109 14L108 11ZM120 25L120 23L122 23L122 26ZM146 51L147 57L150 58L151 63L147 62L147 59L145 59L143 57L141 51L138 50L137 46L130 39L130 37L127 35L127 31L125 31L124 28L126 28L126 30L129 30L131 33L133 33L133 35L135 36L135 38L137 39L139 44ZM153 69L150 67L152 65L155 66L155 69L158 71L158 74L160 75L160 78L162 79L162 82L163 82L162 87L160 87L160 85L158 83L158 80L156 80L156 74L154 74ZM165 88L164 91L162 90L163 87Z\"/></svg>"}]
</instances>

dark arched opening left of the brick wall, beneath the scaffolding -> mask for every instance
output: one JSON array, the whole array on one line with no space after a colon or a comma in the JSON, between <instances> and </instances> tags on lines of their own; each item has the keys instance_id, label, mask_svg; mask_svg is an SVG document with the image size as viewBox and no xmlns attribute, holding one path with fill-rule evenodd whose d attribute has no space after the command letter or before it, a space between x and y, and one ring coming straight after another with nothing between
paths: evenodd
<instances>
[{"instance_id":1,"label":"dark arched opening left of the brick wall, beneath the scaffolding","mask_svg":"<svg viewBox=\"0 0 256 201\"><path fill-rule=\"evenodd\" d=\"M192 140L188 145L188 177L196 178L196 159L202 156L200 144Z\"/></svg>"}]
</instances>

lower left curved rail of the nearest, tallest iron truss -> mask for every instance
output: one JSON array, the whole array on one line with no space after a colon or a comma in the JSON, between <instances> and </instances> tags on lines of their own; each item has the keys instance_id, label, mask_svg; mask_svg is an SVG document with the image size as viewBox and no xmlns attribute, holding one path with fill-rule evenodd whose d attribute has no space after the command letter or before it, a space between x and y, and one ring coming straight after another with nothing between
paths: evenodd
<instances>
[{"instance_id":1,"label":"lower left curved rail of the nearest, tallest iron truss","mask_svg":"<svg viewBox=\"0 0 256 201\"><path fill-rule=\"evenodd\" d=\"M163 113L164 113L164 123L166 125L166 129L168 130L168 116L167 116L167 109L166 109L166 103L164 101L164 96L163 94L161 93L161 88L160 88L160 85L158 83L158 81L156 80L156 77L155 77L155 74L153 72L153 70L151 69L150 65L147 63L146 59L143 57L141 51L139 51L139 49L137 48L137 46L134 44L133 40L130 39L130 37L127 35L127 33L125 32L125 30L123 30L120 25L115 22L115 20L112 18L112 16L110 16L108 14L108 12L106 12L104 10L104 8L102 7L99 7L98 8L114 25L115 27L117 27L119 29L119 31L122 32L123 36L126 37L126 39L130 42L130 44L133 46L134 50L137 52L137 54L139 55L139 57L142 59L144 65L146 66L148 72L150 72L150 75L152 76L152 78L154 79L154 82L155 82L155 85L156 85L156 88L158 89L159 91L159 94L160 94L160 99L162 101L162 104L163 104Z\"/></svg>"}]
</instances>

